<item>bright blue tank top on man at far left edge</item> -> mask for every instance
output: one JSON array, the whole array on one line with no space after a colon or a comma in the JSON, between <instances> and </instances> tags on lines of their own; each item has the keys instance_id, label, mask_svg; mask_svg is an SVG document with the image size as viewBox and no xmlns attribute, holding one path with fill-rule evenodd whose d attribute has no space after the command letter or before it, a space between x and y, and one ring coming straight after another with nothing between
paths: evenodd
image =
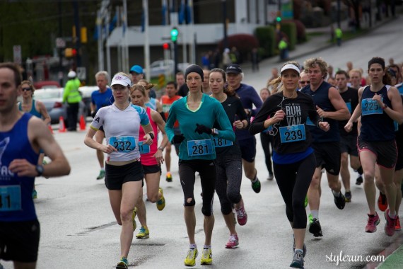
<instances>
[{"instance_id":1,"label":"bright blue tank top on man at far left edge","mask_svg":"<svg viewBox=\"0 0 403 269\"><path fill-rule=\"evenodd\" d=\"M23 222L37 219L32 193L34 177L17 176L8 170L14 159L37 164L39 154L28 139L28 121L24 113L8 132L0 132L0 221Z\"/></svg>"}]
</instances>

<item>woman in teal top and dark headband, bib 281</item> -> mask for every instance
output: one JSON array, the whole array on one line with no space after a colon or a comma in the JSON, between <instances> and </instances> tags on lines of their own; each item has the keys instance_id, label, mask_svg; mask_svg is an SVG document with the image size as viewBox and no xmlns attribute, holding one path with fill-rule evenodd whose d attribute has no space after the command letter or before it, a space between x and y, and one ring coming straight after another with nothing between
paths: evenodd
<instances>
[{"instance_id":1,"label":"woman in teal top and dark headband, bib 281","mask_svg":"<svg viewBox=\"0 0 403 269\"><path fill-rule=\"evenodd\" d=\"M211 253L211 235L214 227L213 198L216 182L216 153L212 138L234 141L235 134L221 103L202 93L203 70L192 64L185 71L185 79L189 94L175 101L170 108L170 114L165 130L172 144L180 143L179 176L184 194L185 223L189 236L189 251L185 265L194 266L198 254L194 229L196 216L194 214L194 181L195 173L199 172L203 191L204 214L204 248L202 264L213 262ZM173 126L179 122L182 135L175 135ZM221 130L212 129L217 122Z\"/></svg>"}]
</instances>

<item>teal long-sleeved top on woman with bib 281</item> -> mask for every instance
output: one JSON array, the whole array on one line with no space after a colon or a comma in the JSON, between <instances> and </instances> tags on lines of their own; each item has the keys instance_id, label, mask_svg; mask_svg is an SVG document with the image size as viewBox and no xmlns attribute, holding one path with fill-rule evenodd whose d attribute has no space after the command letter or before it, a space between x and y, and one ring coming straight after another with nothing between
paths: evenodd
<instances>
[{"instance_id":1,"label":"teal long-sleeved top on woman with bib 281","mask_svg":"<svg viewBox=\"0 0 403 269\"><path fill-rule=\"evenodd\" d=\"M197 108L197 110L190 110L187 106L187 97L188 96L185 96L185 98L173 102L170 108L168 120L165 125L168 139L171 141L175 135L173 125L177 120L179 122L180 132L185 136L185 140L180 143L179 159L216 159L214 147L211 148L212 152L209 150L209 153L211 154L202 155L199 153L204 153L203 149L205 147L212 147L213 144L211 139L213 137L227 139L232 142L235 140L233 127L230 124L230 120L228 120L226 111L220 102L206 94L203 94L199 108ZM220 128L218 128L218 135L213 136L206 133L199 135L199 133L195 132L197 128L196 124L213 128L215 122L220 126ZM201 144L197 144L198 142ZM209 145L202 144L207 142L209 142ZM192 152L193 147L197 152Z\"/></svg>"}]
</instances>

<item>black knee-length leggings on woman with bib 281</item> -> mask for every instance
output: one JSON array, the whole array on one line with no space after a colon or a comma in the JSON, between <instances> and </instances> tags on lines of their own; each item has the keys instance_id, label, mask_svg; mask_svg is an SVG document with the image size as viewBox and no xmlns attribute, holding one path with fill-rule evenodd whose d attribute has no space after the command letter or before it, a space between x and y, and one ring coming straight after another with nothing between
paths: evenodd
<instances>
[{"instance_id":1,"label":"black knee-length leggings on woman with bib 281","mask_svg":"<svg viewBox=\"0 0 403 269\"><path fill-rule=\"evenodd\" d=\"M211 216L213 213L213 198L216 184L216 164L214 160L179 160L179 177L185 197L185 207L196 204L194 201L194 173L199 172L202 183L204 216Z\"/></svg>"}]
</instances>

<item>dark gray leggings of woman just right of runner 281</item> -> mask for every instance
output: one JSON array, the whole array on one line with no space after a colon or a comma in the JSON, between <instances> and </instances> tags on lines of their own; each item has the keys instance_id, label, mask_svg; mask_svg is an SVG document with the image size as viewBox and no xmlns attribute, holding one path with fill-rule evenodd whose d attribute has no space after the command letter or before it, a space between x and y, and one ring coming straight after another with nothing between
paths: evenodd
<instances>
[{"instance_id":1,"label":"dark gray leggings of woman just right of runner 281","mask_svg":"<svg viewBox=\"0 0 403 269\"><path fill-rule=\"evenodd\" d=\"M242 199L240 183L242 182L242 159L238 154L217 155L216 192L220 198L221 212L230 214L233 204Z\"/></svg>"}]
</instances>

